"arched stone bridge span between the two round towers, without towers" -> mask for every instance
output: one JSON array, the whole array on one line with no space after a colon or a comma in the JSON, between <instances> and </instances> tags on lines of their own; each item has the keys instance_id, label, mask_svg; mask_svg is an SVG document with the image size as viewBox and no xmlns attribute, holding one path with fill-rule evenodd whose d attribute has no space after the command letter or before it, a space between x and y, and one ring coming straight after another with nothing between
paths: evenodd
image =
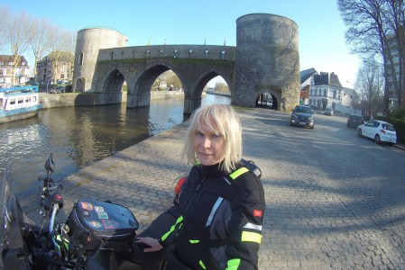
<instances>
[{"instance_id":1,"label":"arched stone bridge span between the two round towers, without towers","mask_svg":"<svg viewBox=\"0 0 405 270\"><path fill-rule=\"evenodd\" d=\"M170 69L179 76L184 112L190 113L201 105L202 91L212 78L222 76L234 88L235 48L163 45L101 49L92 85L103 93L105 103L117 103L125 80L126 106L149 106L153 82Z\"/></svg>"}]
</instances>

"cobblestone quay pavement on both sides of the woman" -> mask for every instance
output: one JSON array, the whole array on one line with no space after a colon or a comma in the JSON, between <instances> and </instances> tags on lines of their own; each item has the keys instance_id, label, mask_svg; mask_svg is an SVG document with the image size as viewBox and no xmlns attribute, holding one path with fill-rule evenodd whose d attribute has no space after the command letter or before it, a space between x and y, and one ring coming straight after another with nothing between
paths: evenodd
<instances>
[{"instance_id":1,"label":"cobblestone quay pavement on both sides of the woman","mask_svg":"<svg viewBox=\"0 0 405 270\"><path fill-rule=\"evenodd\" d=\"M238 109L244 157L262 168L267 208L260 269L405 269L405 151L358 138L346 118ZM179 156L187 123L70 175L66 217L79 197L129 207L145 229L172 200L189 165Z\"/></svg>"}]
</instances>

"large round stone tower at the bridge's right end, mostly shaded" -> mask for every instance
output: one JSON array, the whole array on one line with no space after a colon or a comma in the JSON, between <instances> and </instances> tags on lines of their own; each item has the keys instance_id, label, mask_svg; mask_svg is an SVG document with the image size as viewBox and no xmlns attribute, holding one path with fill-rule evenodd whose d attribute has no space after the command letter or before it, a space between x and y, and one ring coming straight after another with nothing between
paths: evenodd
<instances>
[{"instance_id":1,"label":"large round stone tower at the bridge's right end, mostly shaded","mask_svg":"<svg viewBox=\"0 0 405 270\"><path fill-rule=\"evenodd\" d=\"M254 107L271 93L278 110L299 104L298 25L274 14L246 14L236 20L235 105Z\"/></svg>"}]
</instances>

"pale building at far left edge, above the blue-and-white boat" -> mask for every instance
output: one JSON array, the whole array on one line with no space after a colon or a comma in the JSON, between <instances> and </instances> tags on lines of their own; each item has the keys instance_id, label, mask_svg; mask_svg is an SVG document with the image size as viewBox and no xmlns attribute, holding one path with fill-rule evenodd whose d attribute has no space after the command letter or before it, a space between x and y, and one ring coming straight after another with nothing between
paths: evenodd
<instances>
[{"instance_id":1,"label":"pale building at far left edge, above the blue-and-white boat","mask_svg":"<svg viewBox=\"0 0 405 270\"><path fill-rule=\"evenodd\" d=\"M27 60L23 56L0 55L0 85L8 87L12 85L24 85L28 79Z\"/></svg>"}]
</instances>

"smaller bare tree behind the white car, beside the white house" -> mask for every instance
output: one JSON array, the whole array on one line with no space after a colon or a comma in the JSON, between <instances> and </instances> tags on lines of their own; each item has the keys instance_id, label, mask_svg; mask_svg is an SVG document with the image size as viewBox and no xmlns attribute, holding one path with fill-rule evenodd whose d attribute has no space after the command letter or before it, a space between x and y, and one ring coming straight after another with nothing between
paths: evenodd
<instances>
[{"instance_id":1,"label":"smaller bare tree behind the white car, beside the white house","mask_svg":"<svg viewBox=\"0 0 405 270\"><path fill-rule=\"evenodd\" d=\"M372 116L378 112L378 104L382 96L384 78L382 76L382 65L374 59L365 60L359 68L355 85L359 91L360 99L364 104L366 115Z\"/></svg>"}]
</instances>

